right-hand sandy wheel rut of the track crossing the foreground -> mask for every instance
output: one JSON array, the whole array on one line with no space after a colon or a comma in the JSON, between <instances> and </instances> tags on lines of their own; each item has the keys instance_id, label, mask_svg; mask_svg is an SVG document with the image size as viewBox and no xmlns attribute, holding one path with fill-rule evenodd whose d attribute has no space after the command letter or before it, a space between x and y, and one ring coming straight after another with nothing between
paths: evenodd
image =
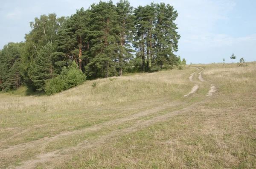
<instances>
[{"instance_id":1,"label":"right-hand sandy wheel rut of the track crossing the foreground","mask_svg":"<svg viewBox=\"0 0 256 169\"><path fill-rule=\"evenodd\" d=\"M16 169L29 169L29 168L33 168L36 166L37 163L50 163L50 167L49 168L54 168L58 165L60 165L61 163L61 159L63 161L63 159L67 159L70 158L70 152L81 152L82 150L85 149L89 149L93 146L100 146L100 145L104 145L105 143L109 142L111 139L116 138L116 137L120 137L122 135L125 135L127 133L131 133L131 132L135 132L138 130L141 130L145 127L148 127L154 123L160 122L160 121L166 121L169 118L171 118L174 115L178 115L178 114L182 114L182 113L187 113L187 112L191 112L191 110L196 107L197 104L200 104L201 102L195 103L189 107L183 108L181 110L176 110L164 115L159 115L157 117L151 118L149 120L143 120L140 121L140 123L134 124L133 126L129 127L129 128L125 128L123 130L116 130L111 132L108 135L103 135L101 137L99 137L97 140L94 141L84 141L81 144L77 145L77 146L73 146L73 147L69 147L67 149L61 149L61 150L57 150L57 151L53 151L53 152L49 152L49 153L45 153L45 154L40 154L37 155L37 159L35 160L30 160L30 161L24 161L22 166L17 166Z\"/></svg>"}]
</instances>

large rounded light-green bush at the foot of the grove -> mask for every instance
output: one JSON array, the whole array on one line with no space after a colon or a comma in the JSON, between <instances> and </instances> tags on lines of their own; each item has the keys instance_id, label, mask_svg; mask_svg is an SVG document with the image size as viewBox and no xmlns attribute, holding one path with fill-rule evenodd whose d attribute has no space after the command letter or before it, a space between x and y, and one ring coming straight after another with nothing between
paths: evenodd
<instances>
[{"instance_id":1,"label":"large rounded light-green bush at the foot of the grove","mask_svg":"<svg viewBox=\"0 0 256 169\"><path fill-rule=\"evenodd\" d=\"M47 95L60 93L61 91L81 85L86 79L86 75L77 68L76 62L68 67L63 67L61 74L54 79L50 79L44 91Z\"/></svg>"}]
</instances>

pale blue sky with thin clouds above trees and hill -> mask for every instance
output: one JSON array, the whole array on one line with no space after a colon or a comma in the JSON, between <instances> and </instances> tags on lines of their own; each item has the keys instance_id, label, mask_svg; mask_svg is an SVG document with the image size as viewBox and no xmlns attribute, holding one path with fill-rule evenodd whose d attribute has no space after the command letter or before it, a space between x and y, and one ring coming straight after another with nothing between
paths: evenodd
<instances>
[{"instance_id":1,"label":"pale blue sky with thin clouds above trees and hill","mask_svg":"<svg viewBox=\"0 0 256 169\"><path fill-rule=\"evenodd\" d=\"M117 3L119 0L112 0ZM148 0L129 0L131 6L147 5ZM153 1L153 0L152 0ZM90 7L99 0L0 0L0 49L8 42L24 41L29 23L42 14L70 16L76 9ZM174 6L179 51L187 64L256 60L256 0L154 0Z\"/></svg>"}]
</instances>

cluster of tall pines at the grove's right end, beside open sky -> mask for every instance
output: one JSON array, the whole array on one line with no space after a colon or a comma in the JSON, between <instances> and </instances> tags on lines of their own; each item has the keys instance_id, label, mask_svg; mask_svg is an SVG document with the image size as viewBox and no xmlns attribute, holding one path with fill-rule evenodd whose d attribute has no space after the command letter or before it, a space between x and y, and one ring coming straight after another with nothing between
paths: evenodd
<instances>
[{"instance_id":1,"label":"cluster of tall pines at the grove's right end, beside open sky","mask_svg":"<svg viewBox=\"0 0 256 169\"><path fill-rule=\"evenodd\" d=\"M141 70L148 70L150 61L151 65L160 65L161 69L165 64L178 65L173 52L178 50L180 35L175 24L178 14L173 6L151 3L135 8L134 15L136 35L133 44L137 57L142 59Z\"/></svg>"}]
</instances>

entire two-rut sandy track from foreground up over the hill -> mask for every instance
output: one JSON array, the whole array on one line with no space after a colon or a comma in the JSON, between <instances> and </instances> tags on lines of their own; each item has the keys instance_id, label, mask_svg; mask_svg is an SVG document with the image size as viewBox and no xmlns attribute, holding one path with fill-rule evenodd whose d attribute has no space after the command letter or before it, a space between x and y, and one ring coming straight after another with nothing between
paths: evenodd
<instances>
[{"instance_id":1,"label":"entire two-rut sandy track from foreground up over the hill","mask_svg":"<svg viewBox=\"0 0 256 169\"><path fill-rule=\"evenodd\" d=\"M198 68L201 68L201 67L198 67ZM194 73L192 73L191 76L189 77L190 81L192 81L193 75L199 70L198 68L196 68L197 70ZM202 71L204 70L203 68L201 68L201 69L202 69ZM198 79L200 79L200 81L204 82L204 79L201 76L202 71L200 73L198 73L199 74ZM198 90L198 88L199 88L199 86L195 85L192 88L192 91L189 92L189 94L185 95L184 97L189 96L192 93L195 93ZM212 86L207 96L212 95L212 93L214 93L214 92L215 92L215 87ZM164 114L164 115L159 115L159 116L156 116L149 120L139 120L139 118L143 118L147 115L157 113L161 110L166 110L171 107L179 106L184 103L177 101L177 102L172 102L172 103L161 104L152 109L143 110L143 111L140 111L139 113L127 116L125 118L115 119L112 121L105 122L103 124L94 125L92 127L88 127L88 128L81 129L81 130L76 130L76 131L72 131L72 132L64 132L64 133L56 135L55 137L52 137L52 138L43 138L43 139L40 139L37 141L29 142L27 144L10 146L8 149L5 149L2 152L0 152L0 158L2 155L5 155L5 158L6 158L6 154L10 155L9 158L13 158L15 156L15 153L23 153L26 151L27 147L35 147L36 149L38 149L40 147L39 150L41 150L40 151L41 153L36 155L34 157L34 159L29 160L29 161L23 161L21 166L9 166L9 168L17 168L17 169L34 168L37 165L37 163L43 163L43 164L47 163L47 168L54 168L56 166L59 166L61 164L61 161L64 161L65 159L70 159L72 157L72 155L74 155L74 154L76 155L77 153L81 152L82 150L89 149L93 146L104 145L105 143L111 141L111 139L113 139L113 138L125 135L130 132L141 130L144 127L148 127L148 126L150 126L154 123L157 123L159 121L166 121L174 115L191 112L197 104L201 104L201 103L202 102L198 102L189 107L183 108L181 110L176 110L176 111L172 111L167 114ZM93 140L93 141L82 141L80 144L78 144L76 146L71 146L68 148L64 148L64 149L60 149L60 150L56 150L56 151L52 151L52 152L45 152L45 148L46 148L47 144L50 144L52 141L56 141L61 138L63 139L65 137L67 137L68 135L72 136L72 135L76 135L76 134L86 134L86 132L97 131L97 130L100 130L102 127L108 127L108 126L111 126L114 124L123 124L124 122L130 121L130 120L137 120L137 122L135 124L133 124L131 127L128 127L128 128L122 129L122 130L115 130L109 134L99 136L98 139Z\"/></svg>"}]
</instances>

